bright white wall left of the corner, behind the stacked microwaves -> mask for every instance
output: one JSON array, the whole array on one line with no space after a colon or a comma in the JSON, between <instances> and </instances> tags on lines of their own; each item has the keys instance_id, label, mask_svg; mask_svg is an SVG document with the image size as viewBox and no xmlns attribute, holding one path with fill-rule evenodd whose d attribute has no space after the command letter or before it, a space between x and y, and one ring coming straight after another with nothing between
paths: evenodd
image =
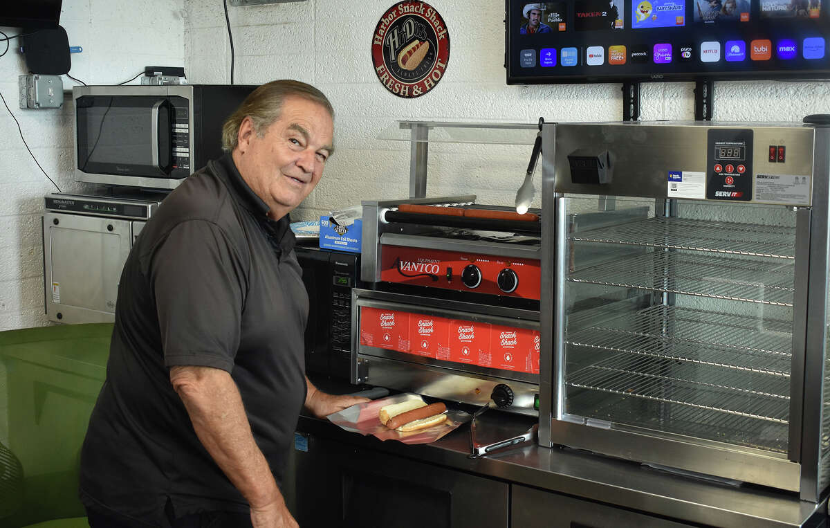
<instances>
[{"instance_id":1,"label":"bright white wall left of the corner, behind the stacked microwaves","mask_svg":"<svg viewBox=\"0 0 830 528\"><path fill-rule=\"evenodd\" d=\"M183 16L184 0L63 0L61 26L70 45L84 49L71 57L71 76L87 84L116 84L144 66L181 66ZM16 35L20 28L0 31ZM21 110L17 76L27 68L17 39L11 44L0 58L0 93L46 173L64 192L80 191L85 187L72 181L71 98L60 110ZM64 77L65 90L73 84ZM0 130L0 330L46 325L41 214L43 196L56 188L37 168L2 105Z\"/></svg>"}]
</instances>

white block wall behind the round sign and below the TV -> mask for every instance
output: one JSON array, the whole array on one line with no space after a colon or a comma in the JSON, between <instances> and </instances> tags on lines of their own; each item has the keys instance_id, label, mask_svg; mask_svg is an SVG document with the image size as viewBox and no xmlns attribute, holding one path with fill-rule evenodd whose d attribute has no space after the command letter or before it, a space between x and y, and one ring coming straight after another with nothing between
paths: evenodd
<instances>
[{"instance_id":1,"label":"white block wall behind the round sign and below the TV","mask_svg":"<svg viewBox=\"0 0 830 528\"><path fill-rule=\"evenodd\" d=\"M311 219L361 199L408 196L409 145L376 139L394 120L619 120L620 85L507 86L504 0L429 0L450 33L447 72L416 99L388 92L374 73L374 27L394 0L306 0L228 7L235 81L295 78L334 104L337 153L315 192L294 214ZM230 81L230 48L220 0L184 0L185 66L191 82ZM691 120L691 83L642 86L643 120ZM720 82L716 120L800 120L830 113L830 83ZM510 205L530 148L430 146L427 195L475 193L480 203ZM537 205L540 176L536 176Z\"/></svg>"}]
</instances>

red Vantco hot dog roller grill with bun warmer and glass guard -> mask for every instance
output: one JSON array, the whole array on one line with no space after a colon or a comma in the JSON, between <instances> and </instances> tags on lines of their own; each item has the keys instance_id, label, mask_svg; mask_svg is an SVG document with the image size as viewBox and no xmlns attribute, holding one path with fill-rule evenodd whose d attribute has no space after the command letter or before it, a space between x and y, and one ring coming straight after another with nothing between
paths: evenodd
<instances>
[{"instance_id":1,"label":"red Vantco hot dog roller grill with bun warmer and glass guard","mask_svg":"<svg viewBox=\"0 0 830 528\"><path fill-rule=\"evenodd\" d=\"M422 197L427 144L439 162L447 152L471 177L481 149L467 153L463 144L490 144L510 162L490 163L488 173L504 169L518 187L537 132L535 125L398 122L383 133L411 142L410 198L363 203L353 383L476 405L493 400L536 415L540 212L533 221L480 218L511 208L476 204L472 195Z\"/></svg>"}]
</instances>

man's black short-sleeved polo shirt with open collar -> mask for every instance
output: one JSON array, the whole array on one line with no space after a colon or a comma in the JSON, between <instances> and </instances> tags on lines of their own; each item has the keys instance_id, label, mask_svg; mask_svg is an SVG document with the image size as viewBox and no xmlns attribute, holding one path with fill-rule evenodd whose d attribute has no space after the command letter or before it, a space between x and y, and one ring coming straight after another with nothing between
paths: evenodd
<instances>
[{"instance_id":1,"label":"man's black short-sleeved polo shirt with open collar","mask_svg":"<svg viewBox=\"0 0 830 528\"><path fill-rule=\"evenodd\" d=\"M176 365L231 374L281 482L305 402L308 296L289 220L267 211L226 155L187 178L142 230L81 450L85 505L161 526L165 507L175 516L248 510L173 391Z\"/></svg>"}]
</instances>

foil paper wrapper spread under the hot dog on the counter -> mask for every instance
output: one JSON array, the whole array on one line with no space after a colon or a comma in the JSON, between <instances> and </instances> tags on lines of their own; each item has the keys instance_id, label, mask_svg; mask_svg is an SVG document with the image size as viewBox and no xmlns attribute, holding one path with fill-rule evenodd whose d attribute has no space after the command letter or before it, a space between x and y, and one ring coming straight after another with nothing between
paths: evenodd
<instances>
[{"instance_id":1,"label":"foil paper wrapper spread under the hot dog on the counter","mask_svg":"<svg viewBox=\"0 0 830 528\"><path fill-rule=\"evenodd\" d=\"M360 433L363 435L373 434L381 440L398 440L403 443L435 442L438 438L442 438L447 433L458 428L462 423L470 421L471 415L469 413L456 409L447 409L447 420L443 423L433 425L431 428L421 429L419 431L402 433L380 423L378 412L380 412L381 407L393 403L405 402L409 399L423 401L423 398L417 394L396 394L388 398L352 405L349 408L344 408L339 413L330 414L326 418L329 418L331 423L339 425L340 428L344 428L346 431L352 433Z\"/></svg>"}]
</instances>

